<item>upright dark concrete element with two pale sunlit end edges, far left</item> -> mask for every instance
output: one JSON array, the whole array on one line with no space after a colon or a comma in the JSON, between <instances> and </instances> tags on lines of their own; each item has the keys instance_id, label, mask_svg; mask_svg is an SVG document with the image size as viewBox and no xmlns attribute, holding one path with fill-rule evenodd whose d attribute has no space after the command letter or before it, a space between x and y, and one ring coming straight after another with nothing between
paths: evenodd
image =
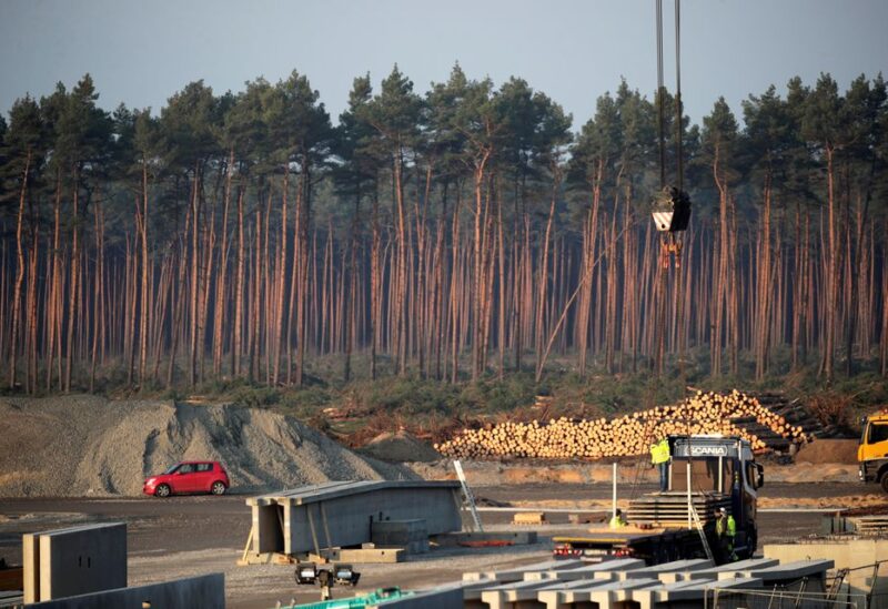
<instances>
[{"instance_id":1,"label":"upright dark concrete element with two pale sunlit end edges, far left","mask_svg":"<svg viewBox=\"0 0 888 609\"><path fill-rule=\"evenodd\" d=\"M24 602L127 587L127 525L107 522L26 534Z\"/></svg>"}]
</instances>

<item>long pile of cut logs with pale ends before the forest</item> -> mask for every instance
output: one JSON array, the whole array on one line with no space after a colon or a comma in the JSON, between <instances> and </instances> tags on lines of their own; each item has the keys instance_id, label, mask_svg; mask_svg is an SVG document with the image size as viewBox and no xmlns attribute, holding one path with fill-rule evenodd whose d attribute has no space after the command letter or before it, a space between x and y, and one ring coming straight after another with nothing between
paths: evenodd
<instances>
[{"instance_id":1,"label":"long pile of cut logs with pale ends before the forest","mask_svg":"<svg viewBox=\"0 0 888 609\"><path fill-rule=\"evenodd\" d=\"M697 392L674 406L658 406L609 420L559 417L463 429L452 439L436 444L435 449L452 458L597 459L643 455L657 438L688 434L743 437L754 450L767 449L769 441L788 445L808 439L800 425L789 423L756 397L735 389L729 394Z\"/></svg>"}]
</instances>

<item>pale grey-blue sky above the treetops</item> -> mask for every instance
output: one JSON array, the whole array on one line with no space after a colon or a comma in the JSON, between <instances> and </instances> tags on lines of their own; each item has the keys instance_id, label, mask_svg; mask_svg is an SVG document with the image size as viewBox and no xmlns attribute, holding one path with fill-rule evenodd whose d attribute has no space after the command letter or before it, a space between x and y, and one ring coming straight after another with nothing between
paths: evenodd
<instances>
[{"instance_id":1,"label":"pale grey-blue sky above the treetops","mask_svg":"<svg viewBox=\"0 0 888 609\"><path fill-rule=\"evenodd\" d=\"M99 104L152 106L191 81L216 93L307 75L335 123L355 77L375 88L395 63L424 94L455 62L498 87L525 79L574 115L620 78L656 88L654 0L0 0L0 113L17 98L92 74ZM674 0L664 0L666 84L674 90ZM829 72L840 89L888 72L886 0L685 0L682 91L699 123L719 95ZM888 77L888 73L885 75Z\"/></svg>"}]
</instances>

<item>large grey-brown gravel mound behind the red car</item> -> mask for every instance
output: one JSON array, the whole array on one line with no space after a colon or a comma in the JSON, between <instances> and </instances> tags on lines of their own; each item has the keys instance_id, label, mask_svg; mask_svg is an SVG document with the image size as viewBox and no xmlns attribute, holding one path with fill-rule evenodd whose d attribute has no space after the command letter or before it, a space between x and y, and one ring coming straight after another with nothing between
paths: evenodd
<instances>
[{"instance_id":1,"label":"large grey-brown gravel mound behind the red car","mask_svg":"<svg viewBox=\"0 0 888 609\"><path fill-rule=\"evenodd\" d=\"M225 464L238 491L416 477L355 455L299 420L236 405L0 400L0 497L139 495L181 459Z\"/></svg>"}]
</instances>

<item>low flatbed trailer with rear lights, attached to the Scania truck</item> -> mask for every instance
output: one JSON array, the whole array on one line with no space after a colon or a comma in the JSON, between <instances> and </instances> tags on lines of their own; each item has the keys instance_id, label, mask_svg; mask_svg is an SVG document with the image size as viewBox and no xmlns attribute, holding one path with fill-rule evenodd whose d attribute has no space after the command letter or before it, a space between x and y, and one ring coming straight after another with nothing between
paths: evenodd
<instances>
[{"instance_id":1,"label":"low flatbed trailer with rear lights, attached to the Scania truck","mask_svg":"<svg viewBox=\"0 0 888 609\"><path fill-rule=\"evenodd\" d=\"M639 558L648 565L706 558L699 532L687 528L593 529L579 536L554 537L552 541L555 545L555 558ZM709 542L712 545L712 540Z\"/></svg>"}]
</instances>

